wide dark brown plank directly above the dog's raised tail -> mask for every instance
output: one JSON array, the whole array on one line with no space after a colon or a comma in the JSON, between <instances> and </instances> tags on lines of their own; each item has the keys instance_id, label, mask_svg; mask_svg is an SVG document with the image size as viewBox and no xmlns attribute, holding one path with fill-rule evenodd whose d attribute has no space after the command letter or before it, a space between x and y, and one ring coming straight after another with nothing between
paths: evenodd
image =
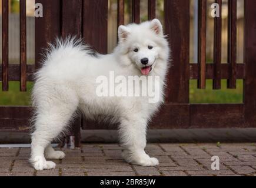
<instances>
[{"instance_id":1,"label":"wide dark brown plank directly above the dog's raised tail","mask_svg":"<svg viewBox=\"0 0 256 188\"><path fill-rule=\"evenodd\" d=\"M44 8L43 17L35 18L35 68L41 67L42 53L48 42L54 42L61 34L61 1L36 0Z\"/></svg>"}]
</instances>

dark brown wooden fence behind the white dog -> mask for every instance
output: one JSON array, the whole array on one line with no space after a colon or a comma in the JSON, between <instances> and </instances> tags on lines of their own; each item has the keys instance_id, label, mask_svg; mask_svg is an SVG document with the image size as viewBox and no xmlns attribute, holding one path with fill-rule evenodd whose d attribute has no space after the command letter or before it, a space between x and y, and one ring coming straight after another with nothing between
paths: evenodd
<instances>
[{"instance_id":1,"label":"dark brown wooden fence behind the white dog","mask_svg":"<svg viewBox=\"0 0 256 188\"><path fill-rule=\"evenodd\" d=\"M256 127L256 1L245 1L244 63L236 62L237 1L228 1L228 63L221 63L221 17L215 18L214 62L206 63L206 0L199 4L198 63L189 63L189 0L165 0L164 25L172 49L167 99L150 127ZM107 0L36 0L44 6L44 17L35 19L35 65L26 65L25 0L21 0L21 58L20 65L8 65L8 0L2 0L2 90L8 82L19 80L21 91L40 67L42 48L56 36L77 35L100 53L107 53ZM216 0L221 7L221 0ZM148 19L155 18L155 0L148 0ZM118 25L124 24L124 0L118 0ZM132 21L139 23L139 0L132 0ZM189 104L189 80L197 79L198 88L205 89L205 80L212 79L213 89L221 89L221 79L228 79L228 88L244 79L244 103ZM86 93L85 93L86 95ZM0 107L1 130L26 130L31 107ZM112 129L113 125L98 125L78 119L74 133L79 143L83 129Z\"/></svg>"}]
</instances>

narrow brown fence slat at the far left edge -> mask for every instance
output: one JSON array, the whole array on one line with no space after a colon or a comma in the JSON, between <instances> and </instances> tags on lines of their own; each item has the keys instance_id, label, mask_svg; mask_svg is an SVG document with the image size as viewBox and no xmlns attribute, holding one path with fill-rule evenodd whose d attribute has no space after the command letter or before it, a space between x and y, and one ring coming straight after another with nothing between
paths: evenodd
<instances>
[{"instance_id":1,"label":"narrow brown fence slat at the far left edge","mask_svg":"<svg viewBox=\"0 0 256 188\"><path fill-rule=\"evenodd\" d=\"M2 0L2 90L8 91L8 32L9 2Z\"/></svg>"}]
</instances>

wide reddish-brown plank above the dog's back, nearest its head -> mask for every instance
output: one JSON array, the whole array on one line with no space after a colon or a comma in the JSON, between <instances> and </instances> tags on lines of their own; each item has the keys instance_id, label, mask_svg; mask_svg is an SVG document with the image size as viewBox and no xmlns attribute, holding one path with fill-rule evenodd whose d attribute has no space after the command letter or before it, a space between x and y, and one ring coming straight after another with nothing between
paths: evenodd
<instances>
[{"instance_id":1,"label":"wide reddish-brown plank above the dog's back, nearest its head","mask_svg":"<svg viewBox=\"0 0 256 188\"><path fill-rule=\"evenodd\" d=\"M83 0L82 36L99 53L108 52L108 0Z\"/></svg>"}]
</instances>

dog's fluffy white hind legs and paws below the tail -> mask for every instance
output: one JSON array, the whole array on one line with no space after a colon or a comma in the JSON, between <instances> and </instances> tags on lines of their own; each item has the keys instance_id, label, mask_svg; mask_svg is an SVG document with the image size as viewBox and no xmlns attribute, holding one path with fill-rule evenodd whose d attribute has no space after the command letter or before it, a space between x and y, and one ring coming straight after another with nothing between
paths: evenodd
<instances>
[{"instance_id":1,"label":"dog's fluffy white hind legs and paws below the tail","mask_svg":"<svg viewBox=\"0 0 256 188\"><path fill-rule=\"evenodd\" d=\"M69 105L51 106L44 109L36 116L35 132L32 133L30 162L36 170L54 169L56 164L46 161L46 157L64 157L64 153L55 152L49 147L52 140L57 137L67 126L69 119L77 109L74 103ZM47 147L47 148L46 148ZM45 150L46 149L46 150ZM58 155L58 156L57 156Z\"/></svg>"}]
</instances>

